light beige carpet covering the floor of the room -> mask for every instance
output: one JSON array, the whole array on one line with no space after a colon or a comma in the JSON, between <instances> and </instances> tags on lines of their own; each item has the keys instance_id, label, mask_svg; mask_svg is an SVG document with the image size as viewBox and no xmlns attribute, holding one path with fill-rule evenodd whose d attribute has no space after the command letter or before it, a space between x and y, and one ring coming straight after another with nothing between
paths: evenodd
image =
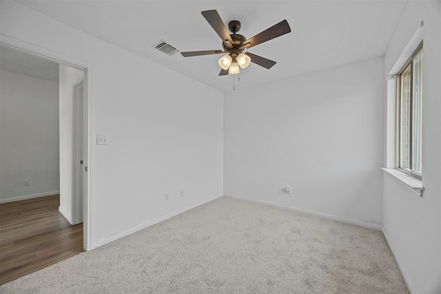
<instances>
[{"instance_id":1,"label":"light beige carpet covering the floor of the room","mask_svg":"<svg viewBox=\"0 0 441 294\"><path fill-rule=\"evenodd\" d=\"M409 293L382 232L219 198L0 293Z\"/></svg>"}]
</instances>

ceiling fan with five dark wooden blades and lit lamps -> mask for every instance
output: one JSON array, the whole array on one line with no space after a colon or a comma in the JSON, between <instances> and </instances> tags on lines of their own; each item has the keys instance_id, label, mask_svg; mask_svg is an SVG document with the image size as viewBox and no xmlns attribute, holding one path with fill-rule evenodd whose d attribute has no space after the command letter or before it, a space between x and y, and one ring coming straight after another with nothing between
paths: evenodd
<instances>
[{"instance_id":1,"label":"ceiling fan with five dark wooden blades and lit lamps","mask_svg":"<svg viewBox=\"0 0 441 294\"><path fill-rule=\"evenodd\" d=\"M280 23L273 25L271 28L267 28L267 30L256 34L256 36L245 39L245 36L236 34L240 30L240 21L230 21L228 23L228 29L230 32L232 32L232 34L229 34L216 10L207 10L201 13L208 23L212 25L213 29L220 36L220 39L222 39L223 50L191 51L181 52L181 54L184 57L189 57L226 53L219 59L218 62L222 68L219 76L238 74L240 72L240 68L247 67L250 62L256 63L257 65L263 66L269 70L273 65L276 64L276 61L265 59L262 56L252 54L250 52L243 52L243 50L252 48L255 45L291 32L291 28L289 28L289 24L285 19L280 21Z\"/></svg>"}]
</instances>

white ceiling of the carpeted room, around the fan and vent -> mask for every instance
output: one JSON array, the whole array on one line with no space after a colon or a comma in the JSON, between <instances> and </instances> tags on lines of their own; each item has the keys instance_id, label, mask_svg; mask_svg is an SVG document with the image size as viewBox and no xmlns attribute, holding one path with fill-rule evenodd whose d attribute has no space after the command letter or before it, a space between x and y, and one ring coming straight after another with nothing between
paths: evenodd
<instances>
[{"instance_id":1,"label":"white ceiling of the carpeted room, around the fan and vent","mask_svg":"<svg viewBox=\"0 0 441 294\"><path fill-rule=\"evenodd\" d=\"M218 76L221 54L168 56L152 48L165 40L182 51L220 50L222 41L201 15L216 9L225 25L242 23L247 39L287 19L291 32L249 52L277 61L252 63L236 89L384 55L407 1L39 1L17 0L107 43L125 48L222 92L233 76Z\"/></svg>"}]
</instances>

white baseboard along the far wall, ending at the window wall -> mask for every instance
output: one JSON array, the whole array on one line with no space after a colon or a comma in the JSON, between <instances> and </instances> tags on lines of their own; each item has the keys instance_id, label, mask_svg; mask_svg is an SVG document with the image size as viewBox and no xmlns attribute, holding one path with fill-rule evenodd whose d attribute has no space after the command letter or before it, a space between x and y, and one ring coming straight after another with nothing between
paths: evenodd
<instances>
[{"instance_id":1,"label":"white baseboard along the far wall, ending at the window wall","mask_svg":"<svg viewBox=\"0 0 441 294\"><path fill-rule=\"evenodd\" d=\"M365 228L374 229L374 230L377 230L377 231L381 231L382 230L382 226L380 226L380 224L371 224L370 222L361 222L360 220L351 220L350 218L342 218L340 216L333 216L333 215L327 214L327 213L310 211L310 210L307 210L307 209L300 209L300 208L291 207L291 206L285 205L285 204L279 204L279 203L269 202L269 201L265 201L265 200L252 199L252 198L247 198L247 197L244 197L244 196L233 195L233 194L229 194L229 193L224 193L224 195L228 196L228 197L240 199L240 200L246 200L246 201L255 202L255 203L259 203L259 204L270 205L272 207L278 207L278 208L281 208L281 209L285 209L285 210L289 210L289 211L295 211L295 212L298 212L298 213L304 213L304 214L308 214L310 216L318 216L320 218L326 218L328 220L336 220L338 222L345 222L347 224L354 224L354 225L359 226L359 227L365 227Z\"/></svg>"}]
</instances>

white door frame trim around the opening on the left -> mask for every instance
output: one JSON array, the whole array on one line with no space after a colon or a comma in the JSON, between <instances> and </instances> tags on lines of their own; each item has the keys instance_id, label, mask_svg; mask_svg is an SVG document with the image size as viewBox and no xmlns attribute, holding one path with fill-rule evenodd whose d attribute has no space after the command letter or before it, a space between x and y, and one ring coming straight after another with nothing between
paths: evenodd
<instances>
[{"instance_id":1,"label":"white door frame trim around the opening on the left","mask_svg":"<svg viewBox=\"0 0 441 294\"><path fill-rule=\"evenodd\" d=\"M84 126L84 168L88 171L84 176L84 201L83 201L83 249L90 251L92 246L92 72L93 67L83 61L72 59L70 56L59 54L51 50L41 48L30 43L25 43L10 36L0 34L0 44L12 48L14 50L23 51L43 59L53 61L55 63L68 65L84 71L84 109L85 109L85 126ZM72 180L72 179L71 179Z\"/></svg>"}]
</instances>

